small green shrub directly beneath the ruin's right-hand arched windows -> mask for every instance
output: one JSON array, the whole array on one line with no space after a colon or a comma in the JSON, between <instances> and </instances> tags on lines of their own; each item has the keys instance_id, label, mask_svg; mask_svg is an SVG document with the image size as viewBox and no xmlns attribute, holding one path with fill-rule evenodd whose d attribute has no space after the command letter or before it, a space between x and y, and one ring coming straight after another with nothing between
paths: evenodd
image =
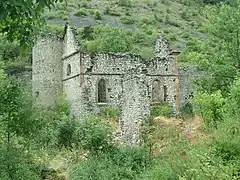
<instances>
[{"instance_id":1,"label":"small green shrub directly beneath the ruin's right-hand arched windows","mask_svg":"<svg viewBox=\"0 0 240 180\"><path fill-rule=\"evenodd\" d=\"M172 108L165 104L153 106L150 113L152 117L157 117L157 116L170 117L171 114L172 114Z\"/></svg>"}]
</instances>

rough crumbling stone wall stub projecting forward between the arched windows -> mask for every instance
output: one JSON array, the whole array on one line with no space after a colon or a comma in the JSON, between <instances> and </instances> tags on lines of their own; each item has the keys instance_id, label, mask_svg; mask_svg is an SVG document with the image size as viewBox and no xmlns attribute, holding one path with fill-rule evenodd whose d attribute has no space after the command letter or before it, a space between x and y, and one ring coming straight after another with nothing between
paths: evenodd
<instances>
[{"instance_id":1,"label":"rough crumbling stone wall stub projecting forward between the arched windows","mask_svg":"<svg viewBox=\"0 0 240 180\"><path fill-rule=\"evenodd\" d=\"M124 142L140 143L140 128L150 115L146 75L127 74L123 80L120 127Z\"/></svg>"}]
</instances>

